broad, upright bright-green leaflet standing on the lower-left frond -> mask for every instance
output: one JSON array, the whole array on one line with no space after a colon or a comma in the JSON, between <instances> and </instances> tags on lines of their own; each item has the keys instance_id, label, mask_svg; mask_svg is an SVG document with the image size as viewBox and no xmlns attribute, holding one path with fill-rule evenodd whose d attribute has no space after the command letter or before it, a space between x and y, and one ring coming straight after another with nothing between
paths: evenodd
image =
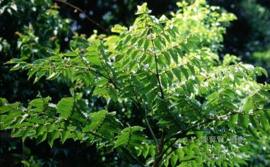
<instances>
[{"instance_id":1,"label":"broad, upright bright-green leaflet standing on the lower-left frond","mask_svg":"<svg viewBox=\"0 0 270 167\"><path fill-rule=\"evenodd\" d=\"M69 118L73 109L73 98L62 98L57 104L57 113L60 114L60 118Z\"/></svg>"}]
</instances>

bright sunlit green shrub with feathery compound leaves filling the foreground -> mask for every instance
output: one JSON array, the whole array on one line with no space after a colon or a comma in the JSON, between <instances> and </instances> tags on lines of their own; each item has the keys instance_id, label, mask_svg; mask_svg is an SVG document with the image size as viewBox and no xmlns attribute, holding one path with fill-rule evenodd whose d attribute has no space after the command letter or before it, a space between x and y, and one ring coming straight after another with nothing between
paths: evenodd
<instances>
[{"instance_id":1,"label":"bright sunlit green shrub with feathery compound leaves filling the foreground","mask_svg":"<svg viewBox=\"0 0 270 167\"><path fill-rule=\"evenodd\" d=\"M11 129L12 137L23 140L47 140L51 147L59 139L96 143L141 166L246 164L252 155L246 146L270 133L270 87L256 82L267 72L232 55L219 60L222 24L233 15L205 1L178 4L181 10L168 19L154 17L143 3L132 26L112 28L117 35L82 37L86 48L51 51L32 63L7 62L11 70L28 71L34 82L69 80L75 91L91 88L93 97L132 103L132 114L143 114L142 123L123 123L121 113L108 112L108 106L91 111L71 89L71 97L57 104L50 97L36 98L28 107L2 99L1 130ZM201 142L204 137L211 140ZM233 142L235 137L244 141Z\"/></svg>"}]
</instances>

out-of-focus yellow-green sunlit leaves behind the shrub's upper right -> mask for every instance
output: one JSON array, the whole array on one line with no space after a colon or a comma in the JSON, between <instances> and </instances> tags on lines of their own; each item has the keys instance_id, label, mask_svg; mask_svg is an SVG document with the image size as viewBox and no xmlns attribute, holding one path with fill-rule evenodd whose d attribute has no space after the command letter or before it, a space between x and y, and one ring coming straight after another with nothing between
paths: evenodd
<instances>
[{"instance_id":1,"label":"out-of-focus yellow-green sunlit leaves behind the shrub's upper right","mask_svg":"<svg viewBox=\"0 0 270 167\"><path fill-rule=\"evenodd\" d=\"M185 24L178 25L185 32L183 34L195 34L204 46L210 47L212 51L220 50L226 26L236 19L235 15L225 12L219 6L209 6L206 1L195 1L190 5L183 1L178 2L177 6L181 7L180 10L172 15L185 21Z\"/></svg>"}]
</instances>

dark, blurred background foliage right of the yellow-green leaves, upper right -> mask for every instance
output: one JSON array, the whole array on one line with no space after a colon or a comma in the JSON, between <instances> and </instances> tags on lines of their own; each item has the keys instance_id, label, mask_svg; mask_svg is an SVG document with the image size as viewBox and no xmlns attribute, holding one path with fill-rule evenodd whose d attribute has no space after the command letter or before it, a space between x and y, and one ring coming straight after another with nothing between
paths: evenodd
<instances>
[{"instance_id":1,"label":"dark, blurred background foliage right of the yellow-green leaves, upper right","mask_svg":"<svg viewBox=\"0 0 270 167\"><path fill-rule=\"evenodd\" d=\"M223 53L235 54L243 62L264 67L269 73L270 46L270 10L269 1L240 0L240 1L212 1L223 6L237 16L233 26L229 28L224 42ZM259 82L269 78L260 78Z\"/></svg>"}]
</instances>

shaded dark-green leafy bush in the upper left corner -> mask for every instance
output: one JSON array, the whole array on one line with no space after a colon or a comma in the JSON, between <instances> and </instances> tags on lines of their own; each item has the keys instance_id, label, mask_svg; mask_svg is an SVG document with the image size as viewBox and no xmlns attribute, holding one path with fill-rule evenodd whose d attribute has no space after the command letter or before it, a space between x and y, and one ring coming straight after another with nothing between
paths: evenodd
<instances>
[{"instance_id":1,"label":"shaded dark-green leafy bush in the upper left corner","mask_svg":"<svg viewBox=\"0 0 270 167\"><path fill-rule=\"evenodd\" d=\"M3 20L10 16L18 20L17 49L20 58L35 60L47 55L48 48L60 51L60 40L69 33L69 19L62 19L59 15L58 6L51 1L10 1L2 2L0 14ZM36 12L38 11L38 12ZM30 20L24 15L34 15L35 20ZM23 18L23 20L21 20ZM1 26L5 27L6 25Z\"/></svg>"}]
</instances>

